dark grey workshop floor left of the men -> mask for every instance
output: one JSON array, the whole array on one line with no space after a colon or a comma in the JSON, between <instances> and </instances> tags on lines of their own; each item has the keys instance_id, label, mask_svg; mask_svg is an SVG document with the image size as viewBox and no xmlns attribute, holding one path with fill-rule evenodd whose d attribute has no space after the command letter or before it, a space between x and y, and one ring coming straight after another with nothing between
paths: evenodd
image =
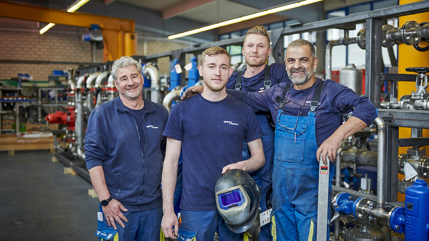
<instances>
[{"instance_id":1,"label":"dark grey workshop floor left of the men","mask_svg":"<svg viewBox=\"0 0 429 241\"><path fill-rule=\"evenodd\" d=\"M98 199L48 151L0 151L0 241L97 240Z\"/></svg>"}]
</instances>

